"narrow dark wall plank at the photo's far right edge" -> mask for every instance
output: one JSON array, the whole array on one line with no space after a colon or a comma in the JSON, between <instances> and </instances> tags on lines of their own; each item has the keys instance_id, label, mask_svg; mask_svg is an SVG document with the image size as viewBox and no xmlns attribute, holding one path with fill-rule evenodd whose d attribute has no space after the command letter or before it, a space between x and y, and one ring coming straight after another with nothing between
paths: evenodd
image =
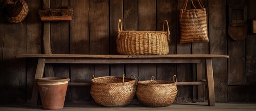
<instances>
[{"instance_id":1,"label":"narrow dark wall plank at the photo's far right edge","mask_svg":"<svg viewBox=\"0 0 256 111\"><path fill-rule=\"evenodd\" d=\"M256 0L247 0L248 19L256 17ZM249 30L249 29L248 29ZM256 35L249 33L245 38L246 48L246 102L256 102Z\"/></svg>"}]
</instances>

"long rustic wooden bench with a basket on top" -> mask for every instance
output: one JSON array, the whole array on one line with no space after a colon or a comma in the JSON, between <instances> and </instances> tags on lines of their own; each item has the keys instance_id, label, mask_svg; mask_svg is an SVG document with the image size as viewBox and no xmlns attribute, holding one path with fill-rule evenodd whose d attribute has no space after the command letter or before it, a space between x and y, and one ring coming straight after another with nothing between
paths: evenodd
<instances>
[{"instance_id":1,"label":"long rustic wooden bench with a basket on top","mask_svg":"<svg viewBox=\"0 0 256 111\"><path fill-rule=\"evenodd\" d=\"M43 77L46 63L86 63L86 64L120 64L120 63L205 63L206 81L177 82L177 85L207 85L208 105L215 105L212 58L228 58L225 55L65 55L65 54L23 54L16 58L39 58L35 80ZM202 74L198 71L197 75ZM90 83L74 83L71 86L89 86ZM34 81L31 107L37 106L38 86Z\"/></svg>"}]
</instances>

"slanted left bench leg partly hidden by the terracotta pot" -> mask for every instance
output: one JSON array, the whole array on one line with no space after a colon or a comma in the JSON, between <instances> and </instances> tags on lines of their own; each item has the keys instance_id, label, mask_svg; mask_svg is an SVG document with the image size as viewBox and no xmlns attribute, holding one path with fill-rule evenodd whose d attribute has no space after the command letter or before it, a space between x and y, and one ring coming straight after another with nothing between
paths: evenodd
<instances>
[{"instance_id":1,"label":"slanted left bench leg partly hidden by the terracotta pot","mask_svg":"<svg viewBox=\"0 0 256 111\"><path fill-rule=\"evenodd\" d=\"M35 80L34 80L34 86L33 86L33 92L32 92L32 97L31 97L31 107L36 107L37 106L37 99L38 99L38 85L36 83L36 79L42 78L43 76L43 71L44 71L44 63L45 59L44 58L39 58L38 63L37 63L37 68L35 72Z\"/></svg>"}]
</instances>

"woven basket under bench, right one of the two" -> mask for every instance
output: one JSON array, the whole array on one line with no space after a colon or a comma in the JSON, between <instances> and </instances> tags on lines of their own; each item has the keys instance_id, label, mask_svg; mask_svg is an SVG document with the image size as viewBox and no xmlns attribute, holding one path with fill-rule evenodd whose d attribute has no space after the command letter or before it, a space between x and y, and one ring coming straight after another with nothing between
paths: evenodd
<instances>
[{"instance_id":1,"label":"woven basket under bench, right one of the two","mask_svg":"<svg viewBox=\"0 0 256 111\"><path fill-rule=\"evenodd\" d=\"M165 107L173 104L178 91L174 80L177 82L176 75L173 76L173 82L154 80L154 76L151 80L138 79L136 95L139 102L148 107Z\"/></svg>"}]
</instances>

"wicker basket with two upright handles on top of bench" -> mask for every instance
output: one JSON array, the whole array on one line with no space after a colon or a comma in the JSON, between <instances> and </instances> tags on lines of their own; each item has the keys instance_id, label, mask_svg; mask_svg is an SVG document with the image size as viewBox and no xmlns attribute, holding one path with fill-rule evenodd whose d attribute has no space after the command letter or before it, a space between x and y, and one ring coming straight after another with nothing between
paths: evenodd
<instances>
[{"instance_id":1,"label":"wicker basket with two upright handles on top of bench","mask_svg":"<svg viewBox=\"0 0 256 111\"><path fill-rule=\"evenodd\" d=\"M164 31L164 25L167 31ZM121 29L121 30L120 30ZM121 55L164 55L168 54L170 31L167 20L163 31L123 31L122 22L118 21L117 51Z\"/></svg>"}]
</instances>

